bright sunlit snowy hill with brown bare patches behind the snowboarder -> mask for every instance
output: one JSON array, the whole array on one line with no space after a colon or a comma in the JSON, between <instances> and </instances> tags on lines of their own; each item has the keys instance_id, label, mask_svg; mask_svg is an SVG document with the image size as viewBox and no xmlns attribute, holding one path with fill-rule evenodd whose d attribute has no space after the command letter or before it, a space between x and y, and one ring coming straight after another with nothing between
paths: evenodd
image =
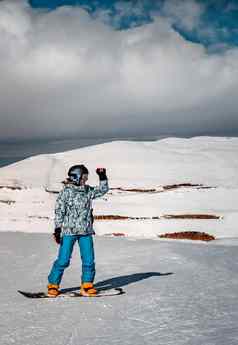
<instances>
[{"instance_id":1,"label":"bright sunlit snowy hill with brown bare patches behind the snowboarder","mask_svg":"<svg viewBox=\"0 0 238 345\"><path fill-rule=\"evenodd\" d=\"M237 152L238 138L195 137L115 141L34 156L0 169L0 230L51 232L61 181L71 165L82 163L91 185L98 183L98 166L108 172L110 193L94 207L99 235L156 237L189 230L237 237Z\"/></svg>"}]
</instances>

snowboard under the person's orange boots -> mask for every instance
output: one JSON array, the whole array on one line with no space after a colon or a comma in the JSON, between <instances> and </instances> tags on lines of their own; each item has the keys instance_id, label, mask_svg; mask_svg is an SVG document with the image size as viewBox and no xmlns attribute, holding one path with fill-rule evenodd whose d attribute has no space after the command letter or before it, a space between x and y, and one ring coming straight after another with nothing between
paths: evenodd
<instances>
[{"instance_id":1,"label":"snowboard under the person's orange boots","mask_svg":"<svg viewBox=\"0 0 238 345\"><path fill-rule=\"evenodd\" d=\"M98 297L109 297L109 296L118 296L123 295L125 291L122 288L115 288L115 289L98 289L98 293L95 296L83 296L80 294L80 292L61 292L56 297L48 296L47 292L27 292L27 291L21 291L17 290L21 295L27 297L27 298L78 298L78 297L84 297L84 298L98 298Z\"/></svg>"}]
</instances>

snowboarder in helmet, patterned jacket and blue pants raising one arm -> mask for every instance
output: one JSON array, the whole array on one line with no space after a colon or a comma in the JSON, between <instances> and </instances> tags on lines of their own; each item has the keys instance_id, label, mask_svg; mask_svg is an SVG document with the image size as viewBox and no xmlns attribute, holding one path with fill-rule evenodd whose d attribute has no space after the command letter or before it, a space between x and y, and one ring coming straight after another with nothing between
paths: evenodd
<instances>
[{"instance_id":1,"label":"snowboarder in helmet, patterned jacket and blue pants raising one arm","mask_svg":"<svg viewBox=\"0 0 238 345\"><path fill-rule=\"evenodd\" d=\"M54 239L60 245L58 258L48 276L48 295L56 297L59 285L70 259L75 242L78 242L82 260L81 289L83 295L96 295L93 286L95 277L93 247L92 200L108 192L106 169L98 168L99 186L86 185L88 169L75 165L69 169L68 179L59 193L55 206Z\"/></svg>"}]
</instances>

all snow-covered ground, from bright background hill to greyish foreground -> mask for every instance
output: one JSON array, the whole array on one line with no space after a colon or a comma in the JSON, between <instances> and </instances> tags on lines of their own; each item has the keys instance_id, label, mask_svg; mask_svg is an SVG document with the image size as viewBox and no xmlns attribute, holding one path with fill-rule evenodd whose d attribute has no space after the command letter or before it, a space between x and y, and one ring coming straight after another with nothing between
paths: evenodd
<instances>
[{"instance_id":1,"label":"all snow-covered ground, from bright background hill to greyish foreground","mask_svg":"<svg viewBox=\"0 0 238 345\"><path fill-rule=\"evenodd\" d=\"M238 138L170 138L101 144L1 168L0 345L237 345L237 153ZM95 202L95 215L137 218L95 221L96 282L126 294L28 300L17 290L46 288L57 254L50 235L55 198L76 163L89 168L92 185L96 167L107 168L112 189ZM158 238L188 230L216 240ZM62 288L77 288L80 275L75 247Z\"/></svg>"}]
</instances>

